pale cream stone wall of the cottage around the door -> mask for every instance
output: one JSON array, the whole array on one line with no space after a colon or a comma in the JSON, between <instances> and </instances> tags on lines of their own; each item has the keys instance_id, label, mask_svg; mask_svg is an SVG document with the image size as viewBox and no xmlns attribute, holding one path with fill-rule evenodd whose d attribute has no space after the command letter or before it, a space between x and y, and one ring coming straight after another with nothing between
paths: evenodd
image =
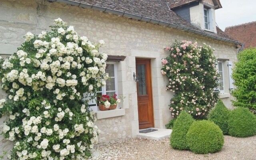
<instances>
[{"instance_id":1,"label":"pale cream stone wall of the cottage around the door","mask_svg":"<svg viewBox=\"0 0 256 160\"><path fill-rule=\"evenodd\" d=\"M48 26L58 17L74 26L80 36L87 36L92 42L103 39L105 45L100 49L102 52L108 55L126 56L120 69L122 75L119 76L123 84L118 88L118 92L126 96L124 103L126 114L96 122L102 130L100 143L132 137L133 132L138 130L132 129L138 128L136 90L134 90L136 86L132 77L135 72L135 57L152 58L152 75L155 75L154 82L157 84L153 86L154 111L159 114L155 114L155 123L160 127L164 127L171 118L168 104L172 94L165 91L167 79L160 74L160 60L168 55L164 50L166 46L171 45L175 39L197 40L199 44L205 42L215 48L214 54L218 58L230 59L233 62L237 60L234 44L92 9L50 3L47 0L0 1L0 54L16 52L16 48L24 41L22 37L26 32L38 34L42 30L49 30ZM134 50L145 54L132 54ZM157 56L154 57L154 54L151 56L150 53L157 53ZM127 90L126 85L132 89ZM0 95L2 96L0 98L5 98L2 92ZM227 99L225 103L230 105L229 98ZM2 122L3 118L0 120ZM1 143L6 144L2 138L0 140ZM0 154L2 149L4 148L0 148Z\"/></svg>"}]
</instances>

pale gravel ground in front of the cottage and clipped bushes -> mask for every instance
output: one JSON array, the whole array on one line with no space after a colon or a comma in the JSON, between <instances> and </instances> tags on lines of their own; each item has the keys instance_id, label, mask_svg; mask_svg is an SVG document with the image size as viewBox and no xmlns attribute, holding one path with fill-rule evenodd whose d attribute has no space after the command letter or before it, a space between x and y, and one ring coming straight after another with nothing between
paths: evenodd
<instances>
[{"instance_id":1,"label":"pale gravel ground in front of the cottage and clipped bushes","mask_svg":"<svg viewBox=\"0 0 256 160\"><path fill-rule=\"evenodd\" d=\"M256 136L224 136L224 139L220 152L194 154L189 150L172 149L169 138L158 141L129 138L95 148L90 160L256 160Z\"/></svg>"}]
</instances>

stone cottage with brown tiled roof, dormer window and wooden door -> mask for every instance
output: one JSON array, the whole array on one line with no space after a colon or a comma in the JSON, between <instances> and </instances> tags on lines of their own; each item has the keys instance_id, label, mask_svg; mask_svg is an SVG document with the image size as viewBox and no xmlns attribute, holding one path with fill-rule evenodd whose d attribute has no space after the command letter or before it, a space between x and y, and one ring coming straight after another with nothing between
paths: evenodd
<instances>
[{"instance_id":1,"label":"stone cottage with brown tiled roof, dormer window and wooden door","mask_svg":"<svg viewBox=\"0 0 256 160\"><path fill-rule=\"evenodd\" d=\"M175 39L215 48L222 66L220 98L232 107L231 65L237 60L237 46L243 44L216 27L218 8L222 8L219 0L1 0L0 54L16 52L26 32L49 30L59 17L92 42L103 39L100 50L109 55L106 70L112 79L98 94L126 97L117 109L108 111L90 102L102 131L99 142L108 143L136 137L140 128L165 128L171 119L168 105L173 95L165 90L167 79L160 68L168 55L164 48ZM143 82L135 82L137 76L143 76ZM1 97L5 98L3 92ZM4 120L0 119L1 126ZM4 146L0 152L8 150L9 143L0 140Z\"/></svg>"}]
</instances>

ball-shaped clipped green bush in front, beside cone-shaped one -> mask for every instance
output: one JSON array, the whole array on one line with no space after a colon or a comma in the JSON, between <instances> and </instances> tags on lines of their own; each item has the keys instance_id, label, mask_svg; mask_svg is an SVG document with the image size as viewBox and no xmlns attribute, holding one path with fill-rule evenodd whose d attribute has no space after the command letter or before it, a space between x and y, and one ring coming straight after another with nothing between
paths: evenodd
<instances>
[{"instance_id":1,"label":"ball-shaped clipped green bush in front, beside cone-shaped one","mask_svg":"<svg viewBox=\"0 0 256 160\"><path fill-rule=\"evenodd\" d=\"M197 154L218 152L224 144L221 129L208 120L195 121L186 135L190 150Z\"/></svg>"}]
</instances>

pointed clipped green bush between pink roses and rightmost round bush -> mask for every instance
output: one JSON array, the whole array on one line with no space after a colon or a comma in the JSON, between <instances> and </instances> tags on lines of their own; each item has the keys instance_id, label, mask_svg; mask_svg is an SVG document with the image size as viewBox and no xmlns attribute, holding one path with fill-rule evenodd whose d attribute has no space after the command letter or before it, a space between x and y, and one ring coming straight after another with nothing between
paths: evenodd
<instances>
[{"instance_id":1,"label":"pointed clipped green bush between pink roses and rightmost round bush","mask_svg":"<svg viewBox=\"0 0 256 160\"><path fill-rule=\"evenodd\" d=\"M228 135L228 117L230 111L221 100L218 100L214 109L208 114L208 120L220 127L224 135Z\"/></svg>"}]
</instances>

